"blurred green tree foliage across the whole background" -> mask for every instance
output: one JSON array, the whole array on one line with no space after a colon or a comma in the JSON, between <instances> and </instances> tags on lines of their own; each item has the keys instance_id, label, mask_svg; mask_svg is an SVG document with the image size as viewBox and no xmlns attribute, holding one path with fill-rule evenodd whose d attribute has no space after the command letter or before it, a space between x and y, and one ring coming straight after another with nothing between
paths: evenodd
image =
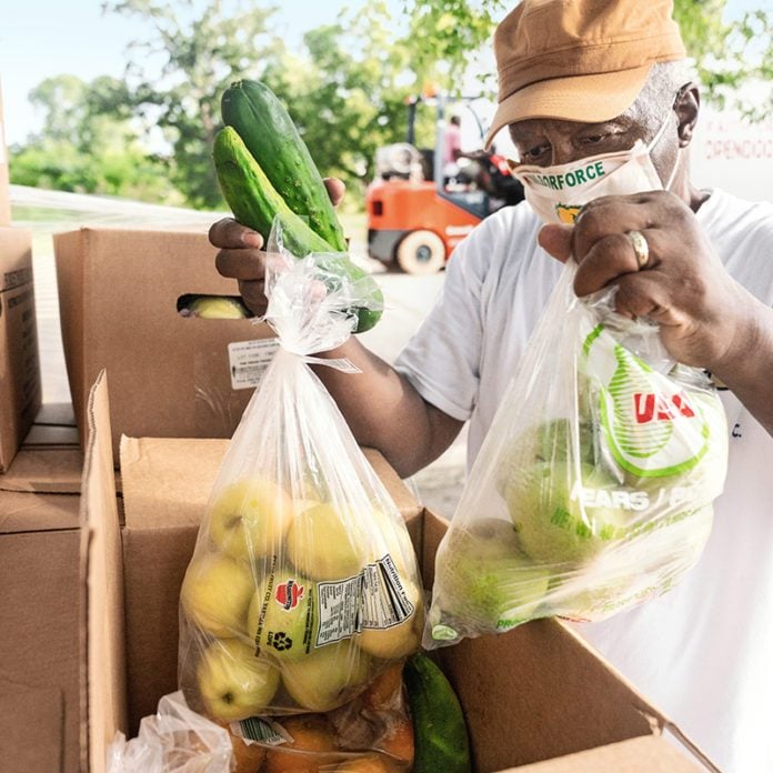
<instances>
[{"instance_id":1,"label":"blurred green tree foliage across the whole background","mask_svg":"<svg viewBox=\"0 0 773 773\"><path fill-rule=\"evenodd\" d=\"M725 0L676 0L687 50L707 97L770 118L773 14L723 19ZM108 13L147 23L123 79L50 78L30 99L46 128L11 148L14 182L224 208L211 148L220 97L239 78L264 80L284 100L323 174L362 188L379 147L405 140L406 100L462 90L474 58L491 44L513 0L384 0L355 3L288 51L277 7L250 0L112 0ZM750 80L767 99L740 101ZM493 73L482 81L493 98ZM425 99L424 100L430 101ZM418 112L419 147L434 145L434 108ZM361 200L359 191L348 197Z\"/></svg>"}]
</instances>

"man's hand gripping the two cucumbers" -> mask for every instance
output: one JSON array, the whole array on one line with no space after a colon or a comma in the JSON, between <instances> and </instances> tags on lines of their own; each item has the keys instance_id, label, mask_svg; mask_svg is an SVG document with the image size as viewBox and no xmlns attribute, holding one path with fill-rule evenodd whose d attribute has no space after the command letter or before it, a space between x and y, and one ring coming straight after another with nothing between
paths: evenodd
<instances>
[{"instance_id":1,"label":"man's hand gripping the two cucumbers","mask_svg":"<svg viewBox=\"0 0 773 773\"><path fill-rule=\"evenodd\" d=\"M343 199L344 184L327 178L324 184L330 200L338 207ZM210 228L209 240L219 249L214 264L229 279L239 281L239 292L248 308L257 315L265 313L268 301L264 293L265 252L263 238L257 231L223 218Z\"/></svg>"}]
</instances>

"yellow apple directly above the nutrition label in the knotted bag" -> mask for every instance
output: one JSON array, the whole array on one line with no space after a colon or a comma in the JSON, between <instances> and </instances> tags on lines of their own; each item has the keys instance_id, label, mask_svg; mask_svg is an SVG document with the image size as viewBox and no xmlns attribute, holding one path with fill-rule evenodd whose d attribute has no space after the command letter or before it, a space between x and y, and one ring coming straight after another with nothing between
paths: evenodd
<instances>
[{"instance_id":1,"label":"yellow apple directly above the nutrition label in the knotted bag","mask_svg":"<svg viewBox=\"0 0 773 773\"><path fill-rule=\"evenodd\" d=\"M314 580L343 580L365 564L365 541L357 519L331 504L298 513L288 529L285 549L293 566Z\"/></svg>"}]
</instances>

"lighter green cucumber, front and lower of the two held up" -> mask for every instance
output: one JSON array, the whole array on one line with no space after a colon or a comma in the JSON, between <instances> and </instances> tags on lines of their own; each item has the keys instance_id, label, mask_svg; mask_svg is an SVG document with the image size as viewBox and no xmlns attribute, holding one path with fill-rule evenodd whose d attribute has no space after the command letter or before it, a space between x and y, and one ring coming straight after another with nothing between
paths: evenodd
<instances>
[{"instance_id":1,"label":"lighter green cucumber, front and lower of the two held up","mask_svg":"<svg viewBox=\"0 0 773 773\"><path fill-rule=\"evenodd\" d=\"M279 218L284 247L297 258L310 252L338 252L288 207L233 128L225 127L217 133L212 155L223 197L240 223L268 240L274 219ZM320 264L331 290L338 290L344 280L358 283L358 294L367 298L369 305L352 309L358 318L354 332L370 330L381 319L384 300L375 280L345 254L330 254Z\"/></svg>"}]
</instances>

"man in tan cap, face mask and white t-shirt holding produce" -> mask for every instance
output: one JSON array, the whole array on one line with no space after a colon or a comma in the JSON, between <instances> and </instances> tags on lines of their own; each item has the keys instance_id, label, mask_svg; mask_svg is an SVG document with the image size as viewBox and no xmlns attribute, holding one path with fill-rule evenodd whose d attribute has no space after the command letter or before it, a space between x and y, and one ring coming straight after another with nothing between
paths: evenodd
<instances>
[{"instance_id":1,"label":"man in tan cap, face mask and white t-shirt holding produce","mask_svg":"<svg viewBox=\"0 0 773 773\"><path fill-rule=\"evenodd\" d=\"M699 92L681 73L667 0L525 0L494 46L500 104L489 139L510 128L529 201L456 248L442 297L395 368L352 338L325 357L347 357L362 374L318 372L359 441L402 475L436 459L465 421L472 462L559 261L579 263L579 295L615 284L621 313L657 322L675 359L726 384L730 465L714 532L687 578L579 631L723 771L773 770L773 208L690 183ZM618 194L596 198L609 190L595 180L586 200L568 194L560 180L591 162L622 170L609 174ZM340 183L329 189L340 199ZM561 224L581 204L576 223ZM542 225L535 211L554 222ZM225 220L211 240L220 271L260 310L260 237Z\"/></svg>"}]
</instances>

